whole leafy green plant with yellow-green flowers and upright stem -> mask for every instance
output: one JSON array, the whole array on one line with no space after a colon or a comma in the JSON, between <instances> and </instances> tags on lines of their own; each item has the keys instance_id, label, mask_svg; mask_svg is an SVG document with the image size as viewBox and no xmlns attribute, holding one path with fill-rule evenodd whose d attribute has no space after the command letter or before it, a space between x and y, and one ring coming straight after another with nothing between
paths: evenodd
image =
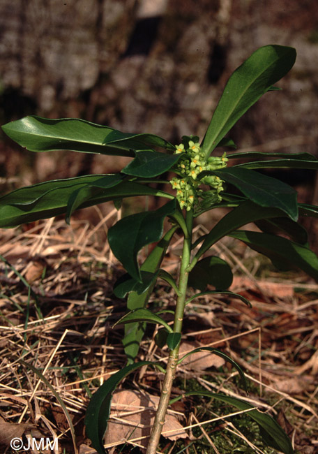
<instances>
[{"instance_id":1,"label":"whole leafy green plant with yellow-green flowers and upright stem","mask_svg":"<svg viewBox=\"0 0 318 454\"><path fill-rule=\"evenodd\" d=\"M2 228L58 214L66 214L66 221L69 221L75 210L109 200L116 207L123 198L136 196L166 200L157 210L130 214L109 228L109 245L127 272L116 282L114 293L119 298L127 296L128 312L117 323L124 325L123 345L128 362L98 388L86 410L86 434L100 454L105 453L103 436L112 393L125 376L144 365L158 367L164 372L160 402L147 447L147 454L156 453L167 407L172 402L170 393L176 368L185 358L179 358L179 345L187 303L202 295L224 293L228 298L239 298L249 304L241 295L229 291L232 284L229 265L218 256L206 255L215 242L229 235L271 258L280 270L299 268L318 279L318 258L309 249L307 234L297 222L298 214L318 217L318 207L298 203L292 187L255 170L317 169L315 156L307 153L214 152L217 147L235 148L234 142L226 137L228 131L263 94L278 90L273 84L292 68L295 59L296 51L292 47L267 45L256 50L229 78L202 142L197 136L183 136L175 146L152 134L122 133L80 119L31 116L3 126L10 138L33 152L68 149L130 156L132 161L116 174L52 180L8 193L0 198ZM233 158L240 158L244 163L228 166ZM168 179L166 175L169 175ZM155 189L158 185L153 183L158 182L162 183L163 189ZM235 193L227 184L236 188ZM227 207L229 212L209 233L192 240L194 219L217 207ZM165 219L169 220L167 228ZM238 230L251 222L259 231ZM176 231L183 237L177 281L161 268ZM139 263L139 251L151 243L155 244L153 249L144 262ZM148 305L158 278L172 286L176 294L172 325L167 323L162 312L153 312ZM209 285L215 290L207 290ZM189 288L197 289L199 293L189 293ZM156 342L161 348L167 346L169 349L165 367L160 362L135 362L145 323L160 325ZM229 361L245 383L243 371L229 356L217 349L202 349ZM248 410L250 418L259 424L261 433L266 434L268 445L285 454L293 452L289 438L268 414L253 409L244 400L220 393L200 392L200 395Z\"/></svg>"}]
</instances>

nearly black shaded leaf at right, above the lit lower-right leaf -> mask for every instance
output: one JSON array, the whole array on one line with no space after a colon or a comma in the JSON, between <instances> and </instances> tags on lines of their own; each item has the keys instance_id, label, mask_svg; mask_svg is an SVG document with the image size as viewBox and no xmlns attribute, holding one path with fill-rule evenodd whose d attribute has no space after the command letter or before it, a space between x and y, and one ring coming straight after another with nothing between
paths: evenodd
<instances>
[{"instance_id":1,"label":"nearly black shaded leaf at right, above the lit lower-right leaf","mask_svg":"<svg viewBox=\"0 0 318 454\"><path fill-rule=\"evenodd\" d=\"M308 234L305 228L289 217L276 217L272 219L260 219L255 221L257 227L264 233L279 235L284 233L289 236L289 239L308 246Z\"/></svg>"}]
</instances>

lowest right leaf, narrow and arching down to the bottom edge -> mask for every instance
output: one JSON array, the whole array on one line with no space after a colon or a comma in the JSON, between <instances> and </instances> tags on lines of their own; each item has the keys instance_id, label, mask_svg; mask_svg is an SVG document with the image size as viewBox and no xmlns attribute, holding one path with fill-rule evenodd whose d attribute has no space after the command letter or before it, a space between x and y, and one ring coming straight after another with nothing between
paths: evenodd
<instances>
[{"instance_id":1,"label":"lowest right leaf, narrow and arching down to the bottom edge","mask_svg":"<svg viewBox=\"0 0 318 454\"><path fill-rule=\"evenodd\" d=\"M220 400L226 404L232 405L239 410L246 410L246 414L250 416L256 423L259 425L259 429L262 430L261 434L266 433L266 442L269 446L272 446L278 451L282 451L284 454L294 454L292 443L287 437L287 434L282 430L282 427L276 423L275 419L269 416L266 413L262 413L258 409L254 409L251 404L245 402L244 400L237 399L236 397L229 397L222 394L211 393L209 391L192 391L190 393L184 393L182 396L176 397L175 399L170 400L170 404L181 400L183 397L190 395L199 395L211 397L212 399Z\"/></svg>"}]
</instances>

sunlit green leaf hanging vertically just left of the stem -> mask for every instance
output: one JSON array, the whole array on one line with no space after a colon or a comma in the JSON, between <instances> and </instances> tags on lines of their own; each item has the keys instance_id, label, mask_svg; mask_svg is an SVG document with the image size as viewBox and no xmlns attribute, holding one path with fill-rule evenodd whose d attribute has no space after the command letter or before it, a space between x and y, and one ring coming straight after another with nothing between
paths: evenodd
<instances>
[{"instance_id":1,"label":"sunlit green leaf hanging vertically just left of the stem","mask_svg":"<svg viewBox=\"0 0 318 454\"><path fill-rule=\"evenodd\" d=\"M160 265L162 263L162 259L165 256L167 251L167 247L172 240L174 232L176 231L177 226L172 227L170 230L167 231L164 237L158 242L156 247L153 248L149 256L146 258L142 266L140 267L141 272L150 272L156 273L159 270ZM139 309L142 307L146 307L149 297L153 291L153 287L155 286L156 281L153 280L151 285L146 289L144 293L138 295L137 292L132 291L128 295L127 301L127 309ZM144 336L144 329L145 323L127 323L125 325L125 335L123 337L123 348L125 350L128 364L132 363L139 351L139 344L142 341L142 337Z\"/></svg>"}]
</instances>

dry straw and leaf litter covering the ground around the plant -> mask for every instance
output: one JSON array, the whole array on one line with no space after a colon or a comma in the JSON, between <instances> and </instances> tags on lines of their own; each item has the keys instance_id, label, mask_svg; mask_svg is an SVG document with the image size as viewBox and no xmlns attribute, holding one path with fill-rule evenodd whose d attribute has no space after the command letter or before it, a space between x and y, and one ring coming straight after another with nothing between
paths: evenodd
<instances>
[{"instance_id":1,"label":"dry straw and leaf litter covering the ground around the plant","mask_svg":"<svg viewBox=\"0 0 318 454\"><path fill-rule=\"evenodd\" d=\"M84 434L89 395L126 362L122 328L112 329L125 311L124 302L112 295L112 284L121 268L107 243L100 247L114 217L116 212L110 213L97 228L79 220L73 221L72 227L64 221L48 220L24 231L1 231L3 444L5 436L6 441L13 437L57 438L56 453L94 452ZM169 251L166 265L170 272L176 272L179 247L176 240ZM314 454L318 450L317 287L303 274L289 274L282 281L278 274L267 270L259 256L234 246L234 240L219 242L215 252L232 264L239 277L231 289L248 298L252 309L239 300L229 302L207 296L194 300L188 305L183 339L218 346L232 356L252 383L250 394L246 397L229 380L236 376L234 369L202 366L181 367L174 395L182 392L181 383L192 383L193 378L208 390L241 395L278 416L299 452ZM169 289L159 286L153 304L172 309ZM148 334L139 358L165 361L167 351L156 347L153 328ZM151 369L140 369L123 382L122 388L158 395L159 378ZM188 427L190 439L199 437L193 431L200 428L209 453L220 451L213 439L217 429L214 425L211 432L209 424L204 424L206 420L216 421L227 437L235 432L236 437L245 438L229 418L213 416L214 409L200 419L196 405L189 400L174 411L184 416L181 421ZM115 447L109 447L109 452L119 444L119 440L113 443ZM139 444L139 439L131 443ZM162 451L172 453L174 444L168 440ZM263 452L256 446L252 449ZM3 452L11 451L5 446Z\"/></svg>"}]
</instances>

